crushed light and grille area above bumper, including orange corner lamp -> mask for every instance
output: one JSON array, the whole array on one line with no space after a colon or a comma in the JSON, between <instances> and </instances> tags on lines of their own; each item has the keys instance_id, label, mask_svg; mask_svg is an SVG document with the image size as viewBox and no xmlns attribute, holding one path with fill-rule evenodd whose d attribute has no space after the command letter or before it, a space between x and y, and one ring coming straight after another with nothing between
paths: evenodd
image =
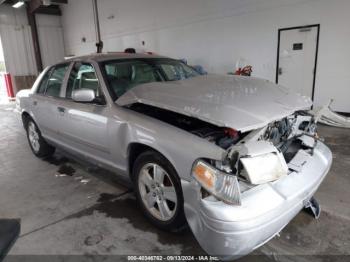
<instances>
[{"instance_id":1,"label":"crushed light and grille area above bumper, including orange corner lamp","mask_svg":"<svg viewBox=\"0 0 350 262\"><path fill-rule=\"evenodd\" d=\"M231 131L231 137L235 137L234 142L222 161L199 160L192 175L206 195L234 205L240 205L241 191L300 171L305 154L312 156L318 141L314 118L305 112L297 112L245 134ZM225 175L226 178L221 178ZM219 187L220 192L217 192ZM225 192L232 194L232 198Z\"/></svg>"}]
</instances>

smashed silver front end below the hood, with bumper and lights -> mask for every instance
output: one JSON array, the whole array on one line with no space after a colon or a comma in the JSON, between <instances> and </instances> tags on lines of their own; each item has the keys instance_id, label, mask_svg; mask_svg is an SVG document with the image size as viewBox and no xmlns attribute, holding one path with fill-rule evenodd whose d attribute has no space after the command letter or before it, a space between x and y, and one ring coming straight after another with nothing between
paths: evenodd
<instances>
[{"instance_id":1,"label":"smashed silver front end below the hood, with bumper and lights","mask_svg":"<svg viewBox=\"0 0 350 262\"><path fill-rule=\"evenodd\" d=\"M182 181L196 239L223 259L253 251L305 206L317 207L312 196L332 162L313 116L303 111L238 136L222 160L196 161L193 180Z\"/></svg>"}]
</instances>

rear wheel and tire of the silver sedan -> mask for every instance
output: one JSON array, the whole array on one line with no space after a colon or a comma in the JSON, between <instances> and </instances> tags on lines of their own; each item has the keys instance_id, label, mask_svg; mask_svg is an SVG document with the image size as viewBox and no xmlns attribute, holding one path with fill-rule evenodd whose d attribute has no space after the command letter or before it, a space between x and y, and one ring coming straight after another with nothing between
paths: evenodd
<instances>
[{"instance_id":1,"label":"rear wheel and tire of the silver sedan","mask_svg":"<svg viewBox=\"0 0 350 262\"><path fill-rule=\"evenodd\" d=\"M34 155L40 158L53 155L55 148L45 141L38 126L31 118L26 121L26 131L28 143Z\"/></svg>"}]
</instances>

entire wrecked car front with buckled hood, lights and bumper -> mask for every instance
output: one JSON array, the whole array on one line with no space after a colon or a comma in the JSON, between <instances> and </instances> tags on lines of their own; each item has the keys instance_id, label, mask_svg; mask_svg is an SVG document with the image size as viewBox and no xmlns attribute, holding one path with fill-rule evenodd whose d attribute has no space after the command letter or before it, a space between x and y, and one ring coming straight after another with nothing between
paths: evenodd
<instances>
[{"instance_id":1,"label":"entire wrecked car front with buckled hood, lights and bumper","mask_svg":"<svg viewBox=\"0 0 350 262\"><path fill-rule=\"evenodd\" d=\"M186 131L187 141L211 143L190 154L181 141L177 148L189 159L179 174L185 215L210 255L243 256L278 234L313 205L332 163L313 116L300 111L311 100L269 81L208 75L149 83L116 103Z\"/></svg>"}]
</instances>

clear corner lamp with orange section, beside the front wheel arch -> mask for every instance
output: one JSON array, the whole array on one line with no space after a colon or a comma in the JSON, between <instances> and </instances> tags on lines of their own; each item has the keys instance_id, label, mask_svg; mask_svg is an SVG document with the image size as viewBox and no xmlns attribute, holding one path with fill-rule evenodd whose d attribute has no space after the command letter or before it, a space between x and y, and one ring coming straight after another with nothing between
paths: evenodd
<instances>
[{"instance_id":1,"label":"clear corner lamp with orange section, beside the front wheel arch","mask_svg":"<svg viewBox=\"0 0 350 262\"><path fill-rule=\"evenodd\" d=\"M241 204L236 176L223 173L201 160L194 164L192 175L205 190L218 199L231 205Z\"/></svg>"}]
</instances>

